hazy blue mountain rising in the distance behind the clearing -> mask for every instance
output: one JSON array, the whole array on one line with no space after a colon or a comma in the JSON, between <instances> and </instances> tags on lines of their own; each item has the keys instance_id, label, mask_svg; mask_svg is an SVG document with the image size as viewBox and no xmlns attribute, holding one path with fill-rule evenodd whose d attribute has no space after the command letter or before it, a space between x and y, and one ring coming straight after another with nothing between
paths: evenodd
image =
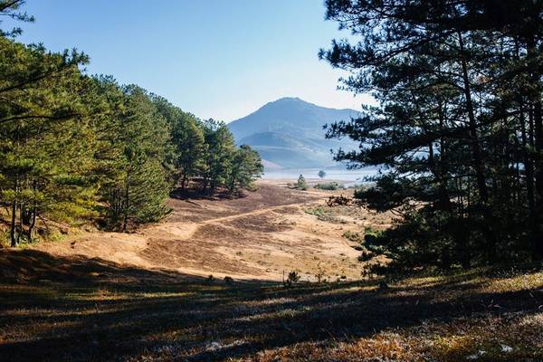
<instances>
[{"instance_id":1,"label":"hazy blue mountain rising in the distance behind the clearing","mask_svg":"<svg viewBox=\"0 0 543 362\"><path fill-rule=\"evenodd\" d=\"M326 139L325 124L349 120L357 110L319 107L299 98L281 98L228 124L236 143L246 144L274 167L333 167L330 149L355 148L350 140Z\"/></svg>"}]
</instances>

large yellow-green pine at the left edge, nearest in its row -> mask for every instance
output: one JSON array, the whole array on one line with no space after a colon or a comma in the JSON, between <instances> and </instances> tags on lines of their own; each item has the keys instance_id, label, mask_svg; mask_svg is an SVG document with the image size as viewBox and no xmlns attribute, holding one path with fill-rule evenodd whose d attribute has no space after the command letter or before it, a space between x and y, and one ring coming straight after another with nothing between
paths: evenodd
<instances>
[{"instance_id":1,"label":"large yellow-green pine at the left edge, nearest in its row","mask_svg":"<svg viewBox=\"0 0 543 362\"><path fill-rule=\"evenodd\" d=\"M56 220L91 214L94 143L89 82L78 69L84 54L48 53L5 38L0 53L0 199L10 210L14 246L23 235L33 238L42 214Z\"/></svg>"}]
</instances>

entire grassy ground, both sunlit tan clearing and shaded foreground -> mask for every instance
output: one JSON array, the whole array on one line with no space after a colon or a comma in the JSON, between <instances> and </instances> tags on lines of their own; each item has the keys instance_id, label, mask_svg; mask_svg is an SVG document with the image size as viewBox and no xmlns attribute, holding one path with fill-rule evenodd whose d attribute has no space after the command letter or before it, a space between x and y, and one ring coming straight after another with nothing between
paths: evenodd
<instances>
[{"instance_id":1,"label":"entire grassy ground, both sunlit tan clearing and shaded foreground","mask_svg":"<svg viewBox=\"0 0 543 362\"><path fill-rule=\"evenodd\" d=\"M138 233L0 250L0 360L543 361L543 271L380 288L342 235L386 219L321 198L263 185L174 199L166 223ZM302 281L284 287L296 268ZM310 282L319 268L329 282Z\"/></svg>"}]
</instances>

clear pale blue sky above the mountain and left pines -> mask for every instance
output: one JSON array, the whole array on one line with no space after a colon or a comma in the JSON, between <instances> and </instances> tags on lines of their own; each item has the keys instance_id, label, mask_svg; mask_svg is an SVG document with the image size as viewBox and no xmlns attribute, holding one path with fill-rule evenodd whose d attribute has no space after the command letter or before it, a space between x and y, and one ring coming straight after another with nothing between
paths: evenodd
<instances>
[{"instance_id":1,"label":"clear pale blue sky above the mountain and left pines","mask_svg":"<svg viewBox=\"0 0 543 362\"><path fill-rule=\"evenodd\" d=\"M90 73L230 121L281 97L359 109L319 48L346 37L321 0L27 0L19 41L90 55ZM4 24L7 25L7 24Z\"/></svg>"}]
</instances>

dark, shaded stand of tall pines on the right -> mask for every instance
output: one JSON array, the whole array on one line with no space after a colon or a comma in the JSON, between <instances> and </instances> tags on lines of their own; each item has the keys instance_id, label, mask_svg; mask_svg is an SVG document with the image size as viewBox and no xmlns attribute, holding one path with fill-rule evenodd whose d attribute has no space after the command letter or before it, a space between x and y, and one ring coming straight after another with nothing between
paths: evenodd
<instances>
[{"instance_id":1,"label":"dark, shaded stand of tall pines on the right","mask_svg":"<svg viewBox=\"0 0 543 362\"><path fill-rule=\"evenodd\" d=\"M327 17L360 43L321 58L378 106L329 127L364 146L351 167L380 165L357 193L402 221L367 237L389 267L543 260L543 2L328 0Z\"/></svg>"}]
</instances>

